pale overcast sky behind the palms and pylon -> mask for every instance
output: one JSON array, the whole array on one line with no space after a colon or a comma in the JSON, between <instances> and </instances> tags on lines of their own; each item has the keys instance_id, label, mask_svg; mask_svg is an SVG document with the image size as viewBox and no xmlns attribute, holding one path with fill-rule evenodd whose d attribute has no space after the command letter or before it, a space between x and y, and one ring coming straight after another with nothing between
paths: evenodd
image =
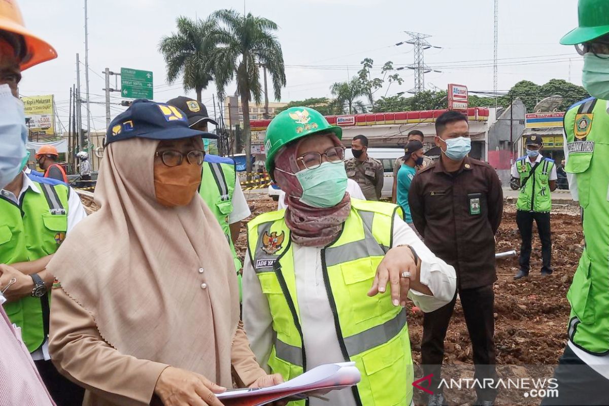
<instances>
[{"instance_id":1,"label":"pale overcast sky behind the palms and pylon","mask_svg":"<svg viewBox=\"0 0 609 406\"><path fill-rule=\"evenodd\" d=\"M85 60L84 0L19 0L27 27L48 40L59 57L24 72L22 96L54 94L62 124L68 126L69 89L76 83L76 53ZM220 8L265 16L278 24L287 87L282 101L330 96L333 82L356 74L365 57L380 68L385 61L404 66L413 61L412 46L395 46L404 31L431 35L440 49L425 52L425 62L442 72L426 74L426 87L445 89L460 83L470 91L493 89L493 1L468 0L90 0L90 97L105 100L102 71L121 67L154 73L155 100L184 94L181 83L169 85L157 45L175 30L178 16L206 18ZM519 80L543 84L552 78L580 84L582 59L573 47L558 44L577 25L577 1L499 0L499 90ZM412 71L400 71L404 83L376 93L395 95L414 85ZM82 93L85 68L81 66ZM113 83L113 79L112 82ZM120 85L120 82L119 82ZM113 85L112 85L113 86ZM235 86L228 88L234 93ZM210 85L203 92L210 114ZM194 91L187 96L195 97ZM84 96L83 96L84 97ZM119 94L113 94L119 102ZM124 108L112 107L113 116ZM83 115L86 110L83 108ZM105 108L91 105L91 130L105 127ZM83 120L86 126L86 119Z\"/></svg>"}]
</instances>

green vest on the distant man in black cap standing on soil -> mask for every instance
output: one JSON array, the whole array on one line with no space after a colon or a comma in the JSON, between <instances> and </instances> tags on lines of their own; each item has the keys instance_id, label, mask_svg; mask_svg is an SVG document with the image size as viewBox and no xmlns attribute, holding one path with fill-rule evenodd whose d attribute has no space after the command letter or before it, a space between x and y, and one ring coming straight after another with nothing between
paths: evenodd
<instances>
[{"instance_id":1,"label":"green vest on the distant man in black cap standing on soil","mask_svg":"<svg viewBox=\"0 0 609 406\"><path fill-rule=\"evenodd\" d=\"M524 211L548 212L552 210L550 175L554 159L544 157L534 171L529 158L523 156L516 160L516 170L520 174L520 187L516 209Z\"/></svg>"}]
</instances>

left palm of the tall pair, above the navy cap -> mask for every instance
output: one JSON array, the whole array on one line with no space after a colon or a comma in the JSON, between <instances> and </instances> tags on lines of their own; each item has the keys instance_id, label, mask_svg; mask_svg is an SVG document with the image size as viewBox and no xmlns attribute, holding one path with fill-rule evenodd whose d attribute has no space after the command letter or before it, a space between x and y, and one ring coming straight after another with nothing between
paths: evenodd
<instances>
[{"instance_id":1,"label":"left palm of the tall pair, above the navy cap","mask_svg":"<svg viewBox=\"0 0 609 406\"><path fill-rule=\"evenodd\" d=\"M171 85L182 75L184 90L194 89L200 102L203 89L214 79L209 61L213 45L209 33L216 24L188 17L178 17L176 23L177 32L161 38L158 44L167 65L167 82Z\"/></svg>"}]
</instances>

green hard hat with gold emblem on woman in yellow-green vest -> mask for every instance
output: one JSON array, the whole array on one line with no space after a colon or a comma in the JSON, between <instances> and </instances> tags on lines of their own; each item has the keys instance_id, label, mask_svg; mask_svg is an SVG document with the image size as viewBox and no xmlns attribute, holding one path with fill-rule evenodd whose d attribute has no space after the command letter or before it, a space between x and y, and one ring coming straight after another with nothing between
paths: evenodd
<instances>
[{"instance_id":1,"label":"green hard hat with gold emblem on woman in yellow-green vest","mask_svg":"<svg viewBox=\"0 0 609 406\"><path fill-rule=\"evenodd\" d=\"M275 155L281 147L308 135L326 131L334 133L339 139L342 138L342 128L329 125L326 117L317 110L309 107L290 107L281 111L271 120L264 137L267 171L273 173Z\"/></svg>"}]
</instances>

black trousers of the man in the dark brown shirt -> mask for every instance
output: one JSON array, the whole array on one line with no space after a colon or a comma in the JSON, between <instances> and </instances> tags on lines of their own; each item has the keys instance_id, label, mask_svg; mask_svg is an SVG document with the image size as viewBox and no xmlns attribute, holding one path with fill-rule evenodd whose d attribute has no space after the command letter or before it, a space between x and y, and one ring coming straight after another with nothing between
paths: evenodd
<instances>
[{"instance_id":1,"label":"black trousers of the man in the dark brown shirt","mask_svg":"<svg viewBox=\"0 0 609 406\"><path fill-rule=\"evenodd\" d=\"M463 307L463 315L467 331L470 333L474 357L474 379L496 379L495 372L495 292L493 285L475 289L460 289L459 298ZM441 393L438 388L442 380L442 362L444 359L444 339L452 317L457 295L451 303L440 309L423 315L423 342L421 343L421 361L425 376L434 374L431 378L430 390ZM497 390L476 388L479 401L495 401Z\"/></svg>"}]
</instances>

